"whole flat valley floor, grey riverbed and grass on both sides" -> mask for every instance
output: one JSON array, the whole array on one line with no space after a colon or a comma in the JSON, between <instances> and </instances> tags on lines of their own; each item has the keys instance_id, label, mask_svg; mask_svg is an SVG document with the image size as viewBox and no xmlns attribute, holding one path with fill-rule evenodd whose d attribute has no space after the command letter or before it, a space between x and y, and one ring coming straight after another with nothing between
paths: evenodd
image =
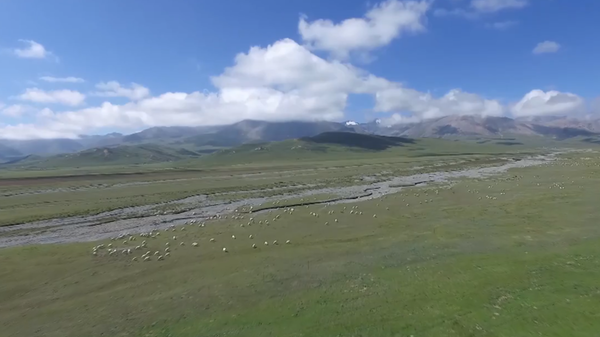
<instances>
[{"instance_id":1,"label":"whole flat valley floor, grey riverbed and grass on both sides","mask_svg":"<svg viewBox=\"0 0 600 337\"><path fill-rule=\"evenodd\" d=\"M0 335L600 331L596 152L261 171L4 186Z\"/></svg>"}]
</instances>

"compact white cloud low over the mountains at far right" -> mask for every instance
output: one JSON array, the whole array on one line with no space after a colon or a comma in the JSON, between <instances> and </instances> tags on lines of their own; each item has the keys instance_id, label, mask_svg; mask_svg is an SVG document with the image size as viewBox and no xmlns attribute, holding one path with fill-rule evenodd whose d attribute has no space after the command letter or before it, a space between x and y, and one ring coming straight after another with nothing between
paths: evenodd
<instances>
[{"instance_id":1,"label":"compact white cloud low over the mountains at far right","mask_svg":"<svg viewBox=\"0 0 600 337\"><path fill-rule=\"evenodd\" d=\"M511 108L514 117L572 115L583 112L583 98L568 92L532 90Z\"/></svg>"}]
</instances>

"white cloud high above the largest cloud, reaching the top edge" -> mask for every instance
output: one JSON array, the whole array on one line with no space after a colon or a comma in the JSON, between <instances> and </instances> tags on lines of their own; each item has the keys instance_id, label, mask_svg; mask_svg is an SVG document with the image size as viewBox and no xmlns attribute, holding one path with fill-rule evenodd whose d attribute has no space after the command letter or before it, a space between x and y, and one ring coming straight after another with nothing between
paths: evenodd
<instances>
[{"instance_id":1,"label":"white cloud high above the largest cloud, reaching the top edge","mask_svg":"<svg viewBox=\"0 0 600 337\"><path fill-rule=\"evenodd\" d=\"M364 18L340 23L300 18L298 30L309 49L331 52L346 58L352 51L370 51L389 44L403 33L425 30L430 1L387 0L372 7Z\"/></svg>"}]
</instances>

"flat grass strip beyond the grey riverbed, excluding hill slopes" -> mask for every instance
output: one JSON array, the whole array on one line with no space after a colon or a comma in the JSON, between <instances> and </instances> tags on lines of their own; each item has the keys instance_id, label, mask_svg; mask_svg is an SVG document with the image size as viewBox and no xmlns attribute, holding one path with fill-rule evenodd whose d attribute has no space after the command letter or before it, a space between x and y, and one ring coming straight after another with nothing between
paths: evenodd
<instances>
[{"instance_id":1,"label":"flat grass strip beyond the grey riverbed, excluding hill slopes","mask_svg":"<svg viewBox=\"0 0 600 337\"><path fill-rule=\"evenodd\" d=\"M281 143L275 143L274 146L280 146ZM501 153L444 155L446 150L438 148L436 151L440 152L406 157L399 155L403 152L386 150L348 156L340 154L328 160L314 157L302 161L282 156L277 162L248 162L233 166L224 160L220 162L221 166L206 168L187 166L186 169L167 170L158 169L157 166L142 166L139 172L131 166L121 166L120 171L117 166L97 167L95 171L76 171L71 175L67 175L68 171L65 170L43 171L39 176L28 174L40 171L5 171L4 179L0 179L0 226L98 214L198 194L208 194L213 199L235 200L239 199L238 195L227 193L269 196L286 190L303 189L309 184L321 187L347 186L360 181L363 176L374 176L381 180L391 176L458 170L504 161ZM236 160L243 162L245 156L239 155ZM415 167L419 169L415 170ZM257 195L257 192L260 194Z\"/></svg>"}]
</instances>

